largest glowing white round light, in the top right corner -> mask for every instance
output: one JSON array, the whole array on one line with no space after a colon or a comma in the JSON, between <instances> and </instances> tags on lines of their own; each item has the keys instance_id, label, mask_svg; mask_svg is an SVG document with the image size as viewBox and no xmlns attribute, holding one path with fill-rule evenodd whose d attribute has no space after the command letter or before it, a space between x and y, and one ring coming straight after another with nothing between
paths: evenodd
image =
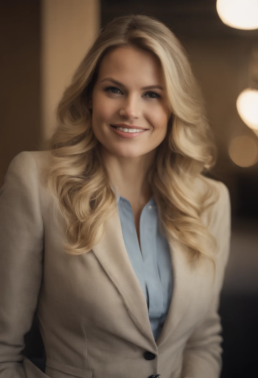
<instances>
[{"instance_id":1,"label":"largest glowing white round light, in the top right corner","mask_svg":"<svg viewBox=\"0 0 258 378\"><path fill-rule=\"evenodd\" d=\"M258 29L257 0L217 0L221 21L236 29Z\"/></svg>"}]
</instances>

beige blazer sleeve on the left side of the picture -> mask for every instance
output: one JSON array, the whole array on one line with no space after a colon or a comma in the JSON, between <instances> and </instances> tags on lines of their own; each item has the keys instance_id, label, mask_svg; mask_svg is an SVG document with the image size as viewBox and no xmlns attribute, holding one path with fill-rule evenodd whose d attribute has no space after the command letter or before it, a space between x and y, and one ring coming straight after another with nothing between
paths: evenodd
<instances>
[{"instance_id":1,"label":"beige blazer sleeve on the left side of the picture","mask_svg":"<svg viewBox=\"0 0 258 378\"><path fill-rule=\"evenodd\" d=\"M13 158L0 189L0 378L26 373L24 335L30 330L42 278L43 220L36 161L30 152ZM42 373L42 375L40 375Z\"/></svg>"}]
</instances>

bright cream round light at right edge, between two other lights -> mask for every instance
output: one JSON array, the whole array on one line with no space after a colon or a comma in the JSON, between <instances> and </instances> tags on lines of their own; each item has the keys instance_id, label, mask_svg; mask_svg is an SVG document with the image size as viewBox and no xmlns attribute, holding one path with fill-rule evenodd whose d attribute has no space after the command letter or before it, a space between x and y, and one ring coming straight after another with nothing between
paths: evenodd
<instances>
[{"instance_id":1,"label":"bright cream round light at right edge, between two other lights","mask_svg":"<svg viewBox=\"0 0 258 378\"><path fill-rule=\"evenodd\" d=\"M238 114L250 129L258 130L258 90L247 88L236 100Z\"/></svg>"}]
</instances>

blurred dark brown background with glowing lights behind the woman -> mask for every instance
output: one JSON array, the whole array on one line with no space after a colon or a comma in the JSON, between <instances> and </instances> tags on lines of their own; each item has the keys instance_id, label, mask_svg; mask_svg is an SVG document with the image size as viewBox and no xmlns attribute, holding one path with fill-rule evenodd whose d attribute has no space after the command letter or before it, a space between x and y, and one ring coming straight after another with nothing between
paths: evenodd
<instances>
[{"instance_id":1,"label":"blurred dark brown background with glowing lights behind the woman","mask_svg":"<svg viewBox=\"0 0 258 378\"><path fill-rule=\"evenodd\" d=\"M1 2L0 186L15 155L43 149L55 126L58 99L99 28L129 12L164 22L183 44L203 91L218 146L209 175L230 191L232 240L220 304L221 378L242 378L258 376L258 11L248 13L252 0L242 1L245 8L235 15L236 22L246 17L248 24L253 17L254 24L229 26L227 16L241 0L226 1L227 8L235 4L224 22L222 0L220 9L216 0ZM25 355L44 370L36 318L25 341Z\"/></svg>"}]
</instances>

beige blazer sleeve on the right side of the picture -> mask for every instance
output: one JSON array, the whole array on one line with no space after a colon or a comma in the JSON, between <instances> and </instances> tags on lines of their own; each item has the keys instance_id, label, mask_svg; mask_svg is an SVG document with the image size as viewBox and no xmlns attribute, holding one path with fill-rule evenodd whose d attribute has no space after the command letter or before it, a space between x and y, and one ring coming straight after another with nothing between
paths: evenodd
<instances>
[{"instance_id":1,"label":"beige blazer sleeve on the right side of the picture","mask_svg":"<svg viewBox=\"0 0 258 378\"><path fill-rule=\"evenodd\" d=\"M219 184L220 198L212 217L212 230L215 230L214 234L220 245L216 281L206 317L194 330L186 344L181 378L219 378L221 373L222 348L220 344L223 338L220 335L222 327L218 309L225 268L229 259L231 209L229 191L222 182Z\"/></svg>"}]
</instances>

